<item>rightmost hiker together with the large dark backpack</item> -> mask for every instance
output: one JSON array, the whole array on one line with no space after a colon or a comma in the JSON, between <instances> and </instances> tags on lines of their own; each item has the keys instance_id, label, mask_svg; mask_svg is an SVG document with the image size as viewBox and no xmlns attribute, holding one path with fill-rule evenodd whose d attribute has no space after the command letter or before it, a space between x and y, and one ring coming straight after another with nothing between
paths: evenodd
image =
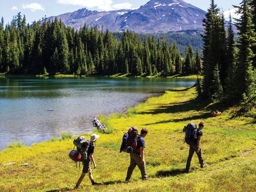
<instances>
[{"instance_id":1,"label":"rightmost hiker together with the large dark backpack","mask_svg":"<svg viewBox=\"0 0 256 192\"><path fill-rule=\"evenodd\" d=\"M201 153L201 136L203 136L202 129L204 128L204 123L200 122L199 127L195 123L189 123L184 126L183 132L185 132L185 142L189 144L189 154L187 159L186 171L189 172L190 163L193 157L194 152L196 151L197 157L199 159L200 167L206 167L204 164L204 158ZM184 142L184 143L185 143Z\"/></svg>"}]
</instances>

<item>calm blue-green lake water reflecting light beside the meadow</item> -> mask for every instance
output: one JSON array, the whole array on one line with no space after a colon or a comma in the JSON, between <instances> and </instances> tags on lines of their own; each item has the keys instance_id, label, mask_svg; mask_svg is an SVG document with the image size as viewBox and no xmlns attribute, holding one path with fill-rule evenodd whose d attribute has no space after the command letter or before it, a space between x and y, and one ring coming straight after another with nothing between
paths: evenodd
<instances>
[{"instance_id":1,"label":"calm blue-green lake water reflecting light beside the meadow","mask_svg":"<svg viewBox=\"0 0 256 192\"><path fill-rule=\"evenodd\" d=\"M195 79L0 76L0 150L14 140L33 143L92 132L99 114L128 108Z\"/></svg>"}]
</instances>

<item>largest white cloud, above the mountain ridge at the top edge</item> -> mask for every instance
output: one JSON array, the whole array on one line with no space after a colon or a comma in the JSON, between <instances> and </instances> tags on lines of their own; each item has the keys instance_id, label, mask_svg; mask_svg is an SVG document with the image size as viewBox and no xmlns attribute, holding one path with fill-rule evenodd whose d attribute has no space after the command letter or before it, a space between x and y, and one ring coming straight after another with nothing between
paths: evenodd
<instances>
[{"instance_id":1,"label":"largest white cloud, above the mountain ridge at the top edge","mask_svg":"<svg viewBox=\"0 0 256 192\"><path fill-rule=\"evenodd\" d=\"M132 9L131 3L113 4L112 0L57 0L57 3L63 5L79 5L86 8L97 7L103 11Z\"/></svg>"}]
</instances>

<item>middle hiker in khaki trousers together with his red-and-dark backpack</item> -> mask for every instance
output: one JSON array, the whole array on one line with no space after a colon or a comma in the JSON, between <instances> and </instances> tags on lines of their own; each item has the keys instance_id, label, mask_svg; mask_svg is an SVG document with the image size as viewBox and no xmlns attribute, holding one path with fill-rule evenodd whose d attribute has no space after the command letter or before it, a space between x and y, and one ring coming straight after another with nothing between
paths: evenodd
<instances>
[{"instance_id":1,"label":"middle hiker in khaki trousers together with his red-and-dark backpack","mask_svg":"<svg viewBox=\"0 0 256 192\"><path fill-rule=\"evenodd\" d=\"M132 172L136 165L138 165L140 169L142 180L149 180L149 178L147 177L146 164L144 158L144 148L146 147L144 137L146 137L148 130L146 128L143 128L140 131L140 135L138 135L138 128L133 126L129 129L129 131L131 131L131 135L127 137L126 144L128 147L132 147L132 152L130 152L130 166L128 167L127 177L125 178L125 181L131 181Z\"/></svg>"}]
</instances>

